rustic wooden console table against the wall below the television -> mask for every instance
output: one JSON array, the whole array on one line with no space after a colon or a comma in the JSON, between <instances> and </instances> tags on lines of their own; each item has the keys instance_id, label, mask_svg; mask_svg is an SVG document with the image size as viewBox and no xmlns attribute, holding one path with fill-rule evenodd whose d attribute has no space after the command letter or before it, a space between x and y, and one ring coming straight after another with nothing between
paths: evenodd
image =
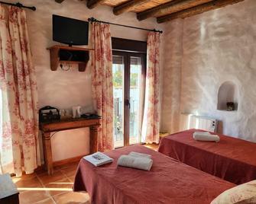
<instances>
[{"instance_id":1,"label":"rustic wooden console table against the wall below the television","mask_svg":"<svg viewBox=\"0 0 256 204\"><path fill-rule=\"evenodd\" d=\"M53 157L50 142L50 132L58 132L66 129L77 129L89 127L90 129L90 154L97 151L98 129L101 119L85 119L76 118L70 120L57 120L54 122L40 123L42 132L43 148L44 148L44 163L48 174L53 174Z\"/></svg>"}]
</instances>

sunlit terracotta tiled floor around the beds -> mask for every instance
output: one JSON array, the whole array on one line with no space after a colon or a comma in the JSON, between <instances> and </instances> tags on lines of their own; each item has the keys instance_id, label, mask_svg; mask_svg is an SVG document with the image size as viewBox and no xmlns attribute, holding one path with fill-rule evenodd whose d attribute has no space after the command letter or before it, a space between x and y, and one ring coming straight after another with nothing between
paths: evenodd
<instances>
[{"instance_id":1,"label":"sunlit terracotta tiled floor around the beds","mask_svg":"<svg viewBox=\"0 0 256 204\"><path fill-rule=\"evenodd\" d=\"M145 145L157 150L158 145ZM88 193L74 193L73 180L78 163L55 167L53 175L45 171L34 174L12 177L20 192L21 204L89 204Z\"/></svg>"}]
</instances>

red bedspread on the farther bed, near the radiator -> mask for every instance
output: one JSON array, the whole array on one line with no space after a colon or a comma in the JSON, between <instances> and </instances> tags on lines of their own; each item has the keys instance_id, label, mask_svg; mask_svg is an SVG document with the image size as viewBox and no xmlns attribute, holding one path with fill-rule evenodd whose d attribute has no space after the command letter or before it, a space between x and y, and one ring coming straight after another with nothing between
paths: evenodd
<instances>
[{"instance_id":1,"label":"red bedspread on the farther bed, near the radiator","mask_svg":"<svg viewBox=\"0 0 256 204\"><path fill-rule=\"evenodd\" d=\"M219 142L199 142L193 139L195 131L202 130L164 137L158 151L232 183L256 179L256 143L225 135L219 135Z\"/></svg>"}]
</instances>

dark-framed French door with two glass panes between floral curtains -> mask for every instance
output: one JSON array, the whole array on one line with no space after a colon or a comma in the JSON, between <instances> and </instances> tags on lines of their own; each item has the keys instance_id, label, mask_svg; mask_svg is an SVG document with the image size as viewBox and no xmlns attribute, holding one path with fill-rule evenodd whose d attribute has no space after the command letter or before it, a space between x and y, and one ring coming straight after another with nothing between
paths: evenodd
<instances>
[{"instance_id":1,"label":"dark-framed French door with two glass panes between floral curtains","mask_svg":"<svg viewBox=\"0 0 256 204\"><path fill-rule=\"evenodd\" d=\"M113 51L115 148L141 140L145 59L145 54Z\"/></svg>"}]
</instances>

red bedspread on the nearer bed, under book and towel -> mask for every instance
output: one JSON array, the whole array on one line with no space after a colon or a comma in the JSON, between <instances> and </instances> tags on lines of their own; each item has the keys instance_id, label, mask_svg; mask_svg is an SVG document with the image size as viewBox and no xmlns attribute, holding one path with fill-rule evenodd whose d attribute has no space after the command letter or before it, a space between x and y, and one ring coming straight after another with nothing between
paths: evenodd
<instances>
[{"instance_id":1,"label":"red bedspread on the nearer bed, under book and towel","mask_svg":"<svg viewBox=\"0 0 256 204\"><path fill-rule=\"evenodd\" d=\"M117 166L120 155L130 151L151 154L151 171ZM94 167L82 159L76 172L73 190L86 190L92 203L209 204L235 186L141 145L119 148L106 155L114 158L112 164Z\"/></svg>"}]
</instances>

